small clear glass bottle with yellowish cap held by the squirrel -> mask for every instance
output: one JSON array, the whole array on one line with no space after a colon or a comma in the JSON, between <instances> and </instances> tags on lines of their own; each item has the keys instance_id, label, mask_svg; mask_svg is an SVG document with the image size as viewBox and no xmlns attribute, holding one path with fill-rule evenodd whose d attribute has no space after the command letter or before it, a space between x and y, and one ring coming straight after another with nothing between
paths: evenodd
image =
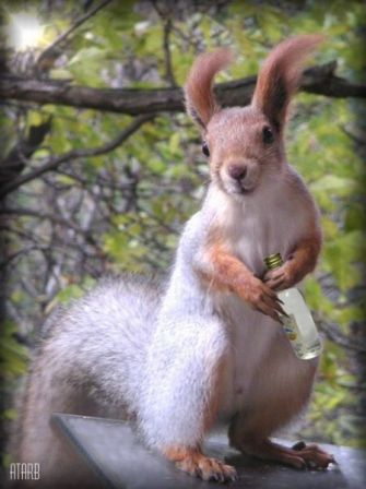
<instances>
[{"instance_id":1,"label":"small clear glass bottle with yellowish cap held by the squirrel","mask_svg":"<svg viewBox=\"0 0 366 489\"><path fill-rule=\"evenodd\" d=\"M280 253L270 254L264 259L268 270L278 269L283 264ZM283 301L283 310L288 317L280 314L283 329L295 351L302 360L309 360L321 354L322 345L317 326L302 294L296 287L280 290L278 297Z\"/></svg>"}]
</instances>

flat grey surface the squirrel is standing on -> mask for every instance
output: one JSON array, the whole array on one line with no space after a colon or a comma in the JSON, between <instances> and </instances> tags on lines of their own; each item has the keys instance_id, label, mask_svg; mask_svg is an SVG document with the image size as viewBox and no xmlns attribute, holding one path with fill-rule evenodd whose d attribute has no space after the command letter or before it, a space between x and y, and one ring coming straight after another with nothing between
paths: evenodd
<instances>
[{"instance_id":1,"label":"flat grey surface the squirrel is standing on","mask_svg":"<svg viewBox=\"0 0 366 489\"><path fill-rule=\"evenodd\" d=\"M176 469L139 442L128 424L86 416L54 415L54 422L76 453L87 460L109 488L205 489L225 487L204 482ZM292 443L288 442L288 445ZM328 470L296 470L257 461L231 449L225 437L212 437L205 453L235 465L238 480L231 489L365 489L366 451L326 445L337 462Z\"/></svg>"}]
</instances>

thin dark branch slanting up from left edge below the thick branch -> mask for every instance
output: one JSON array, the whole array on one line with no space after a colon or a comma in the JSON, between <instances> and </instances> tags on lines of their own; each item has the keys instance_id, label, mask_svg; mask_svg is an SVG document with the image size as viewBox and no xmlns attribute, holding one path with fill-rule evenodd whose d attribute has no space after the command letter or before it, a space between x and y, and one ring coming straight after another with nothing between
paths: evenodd
<instances>
[{"instance_id":1,"label":"thin dark branch slanting up from left edge below the thick branch","mask_svg":"<svg viewBox=\"0 0 366 489\"><path fill-rule=\"evenodd\" d=\"M143 123L147 122L149 120L152 120L153 118L154 115L144 115L137 117L117 138L115 138L114 140L109 141L108 143L102 146L88 150L72 150L63 155L54 156L49 158L42 166L35 168L32 171L28 171L25 175L19 176L8 184L3 186L0 189L0 199L7 195L8 193L12 192L13 190L17 189L19 187L23 186L24 183L27 183L28 181L34 180L35 178L38 178L46 171L55 170L62 163L67 163L78 158L90 158L93 156L99 156L105 153L109 153L110 151L115 150L120 144L122 144L128 138L130 138L130 135L132 135Z\"/></svg>"}]
</instances>

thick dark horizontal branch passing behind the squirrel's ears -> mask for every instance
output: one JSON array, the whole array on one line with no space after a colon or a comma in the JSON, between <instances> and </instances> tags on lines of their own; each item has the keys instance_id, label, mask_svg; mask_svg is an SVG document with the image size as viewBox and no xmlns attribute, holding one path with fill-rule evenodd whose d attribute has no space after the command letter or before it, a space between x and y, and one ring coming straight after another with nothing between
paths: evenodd
<instances>
[{"instance_id":1,"label":"thick dark horizontal branch passing behind the squirrel's ears","mask_svg":"<svg viewBox=\"0 0 366 489\"><path fill-rule=\"evenodd\" d=\"M366 85L355 84L334 75L335 63L312 67L305 71L300 90L329 97L366 98ZM217 98L224 106L248 104L256 76L249 76L215 86ZM61 81L40 81L3 75L0 79L0 99L56 104L90 108L131 116L158 111L184 111L180 87L172 88L90 88Z\"/></svg>"}]
</instances>

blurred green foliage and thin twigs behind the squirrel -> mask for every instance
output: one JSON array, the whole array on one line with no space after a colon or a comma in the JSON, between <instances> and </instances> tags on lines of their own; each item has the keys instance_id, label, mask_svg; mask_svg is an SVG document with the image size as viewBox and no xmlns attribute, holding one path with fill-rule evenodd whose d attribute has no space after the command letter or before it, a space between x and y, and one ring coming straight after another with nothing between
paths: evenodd
<instances>
[{"instance_id":1,"label":"blurred green foliage and thin twigs behind the squirrel","mask_svg":"<svg viewBox=\"0 0 366 489\"><path fill-rule=\"evenodd\" d=\"M327 36L314 63L337 61L337 74L354 83L365 72L363 1L111 1L78 27L98 2L3 3L9 72L45 83L181 86L194 57L223 45L233 47L235 63L217 81L236 80L256 74L284 37L314 32ZM11 45L16 13L38 19L36 46ZM72 33L39 58L70 26ZM314 399L294 436L351 446L365 445L365 116L359 98L299 93L286 134L288 159L309 184L324 230L320 265L304 289L326 348ZM19 178L56 155L105 145L132 120L15 99L1 102L0 118L5 184L11 171ZM11 394L55 308L109 272L168 273L208 178L197 129L184 112L161 111L114 151L70 158L8 193L0 207L3 420L16 417Z\"/></svg>"}]
</instances>

